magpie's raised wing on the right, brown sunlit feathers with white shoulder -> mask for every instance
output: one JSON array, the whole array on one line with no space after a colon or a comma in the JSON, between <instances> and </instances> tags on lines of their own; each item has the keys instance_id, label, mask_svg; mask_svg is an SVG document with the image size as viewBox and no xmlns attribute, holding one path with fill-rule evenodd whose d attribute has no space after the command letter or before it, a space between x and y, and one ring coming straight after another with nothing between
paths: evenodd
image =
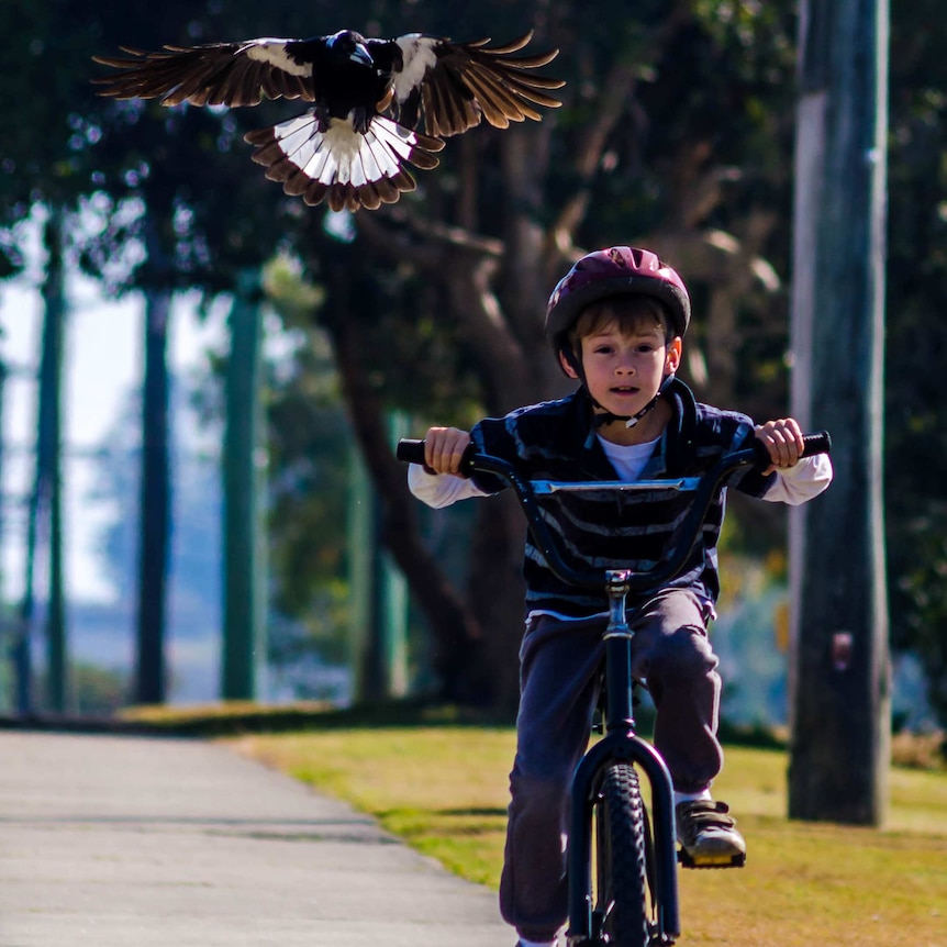
<instances>
[{"instance_id":1,"label":"magpie's raised wing on the right, brown sunlit feathers with white shoulder","mask_svg":"<svg viewBox=\"0 0 947 947\"><path fill-rule=\"evenodd\" d=\"M512 43L488 46L490 40L452 43L409 33L397 40L369 40L367 45L379 66L386 57L390 63L391 109L398 120L414 127L423 115L428 135L446 136L479 125L482 118L497 129L524 119L538 121L536 105L561 105L547 90L566 83L533 71L552 63L559 51L513 55L532 36L530 32Z\"/></svg>"}]
</instances>

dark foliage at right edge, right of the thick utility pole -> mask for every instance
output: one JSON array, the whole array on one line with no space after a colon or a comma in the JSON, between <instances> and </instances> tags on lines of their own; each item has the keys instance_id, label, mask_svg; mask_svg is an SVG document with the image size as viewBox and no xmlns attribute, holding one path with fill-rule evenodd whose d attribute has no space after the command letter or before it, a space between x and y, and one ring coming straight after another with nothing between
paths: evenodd
<instances>
[{"instance_id":1,"label":"dark foliage at right edge, right of the thick utility pole","mask_svg":"<svg viewBox=\"0 0 947 947\"><path fill-rule=\"evenodd\" d=\"M947 726L947 326L932 317L947 291L947 27L933 10L892 9L884 505L892 646L920 657Z\"/></svg>"}]
</instances>

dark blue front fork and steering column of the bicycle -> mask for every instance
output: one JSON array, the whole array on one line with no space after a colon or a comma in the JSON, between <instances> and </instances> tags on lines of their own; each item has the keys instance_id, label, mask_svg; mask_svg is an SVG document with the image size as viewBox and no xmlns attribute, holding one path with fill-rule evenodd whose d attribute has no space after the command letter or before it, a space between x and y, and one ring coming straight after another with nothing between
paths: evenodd
<instances>
[{"instance_id":1,"label":"dark blue front fork and steering column of the bicycle","mask_svg":"<svg viewBox=\"0 0 947 947\"><path fill-rule=\"evenodd\" d=\"M572 802L567 851L570 947L595 943L592 929L592 810L605 768L615 761L634 764L651 790L654 851L654 944L672 944L680 935L673 786L657 750L635 733L632 700L634 633L625 620L627 570L608 577L609 626L605 631L605 735L586 754L572 779Z\"/></svg>"}]
</instances>

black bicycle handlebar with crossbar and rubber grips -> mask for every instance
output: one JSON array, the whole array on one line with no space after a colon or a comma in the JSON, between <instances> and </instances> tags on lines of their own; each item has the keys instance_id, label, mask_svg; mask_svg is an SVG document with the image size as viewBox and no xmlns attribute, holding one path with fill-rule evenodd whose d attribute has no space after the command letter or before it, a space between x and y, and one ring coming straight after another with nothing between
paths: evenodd
<instances>
[{"instance_id":1,"label":"black bicycle handlebar with crossbar and rubber grips","mask_svg":"<svg viewBox=\"0 0 947 947\"><path fill-rule=\"evenodd\" d=\"M832 450L832 438L827 431L803 436L804 457L813 454L828 454ZM398 442L395 456L406 464L424 464L424 442L402 439ZM724 455L714 467L699 477L677 480L639 480L632 483L612 481L555 482L533 481L521 476L520 471L506 460L491 457L488 454L477 454L473 446L467 449L461 464L465 476L472 472L492 473L513 488L520 506L526 516L526 524L533 542L543 554L549 568L564 581L572 586L601 591L604 575L601 571L572 569L562 561L549 531L543 521L536 502L537 487L542 492L568 490L681 490L693 492L694 499L684 521L678 527L671 555L655 569L647 572L631 573L627 578L628 589L643 592L672 579L683 568L700 536L704 517L723 481L740 467L759 467L765 469L770 464L769 453L761 441L755 441L749 447ZM681 542L686 539L687 542Z\"/></svg>"}]
</instances>

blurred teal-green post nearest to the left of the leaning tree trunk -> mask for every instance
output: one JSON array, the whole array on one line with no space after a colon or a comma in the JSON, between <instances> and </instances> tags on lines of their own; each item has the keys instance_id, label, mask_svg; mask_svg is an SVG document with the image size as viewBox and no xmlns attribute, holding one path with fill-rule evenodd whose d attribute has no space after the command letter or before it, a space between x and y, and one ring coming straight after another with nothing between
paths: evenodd
<instances>
[{"instance_id":1,"label":"blurred teal-green post nearest to the left of the leaning tree trunk","mask_svg":"<svg viewBox=\"0 0 947 947\"><path fill-rule=\"evenodd\" d=\"M266 662L266 569L263 489L265 476L260 283L241 274L230 315L224 435L224 700L254 700Z\"/></svg>"}]
</instances>

